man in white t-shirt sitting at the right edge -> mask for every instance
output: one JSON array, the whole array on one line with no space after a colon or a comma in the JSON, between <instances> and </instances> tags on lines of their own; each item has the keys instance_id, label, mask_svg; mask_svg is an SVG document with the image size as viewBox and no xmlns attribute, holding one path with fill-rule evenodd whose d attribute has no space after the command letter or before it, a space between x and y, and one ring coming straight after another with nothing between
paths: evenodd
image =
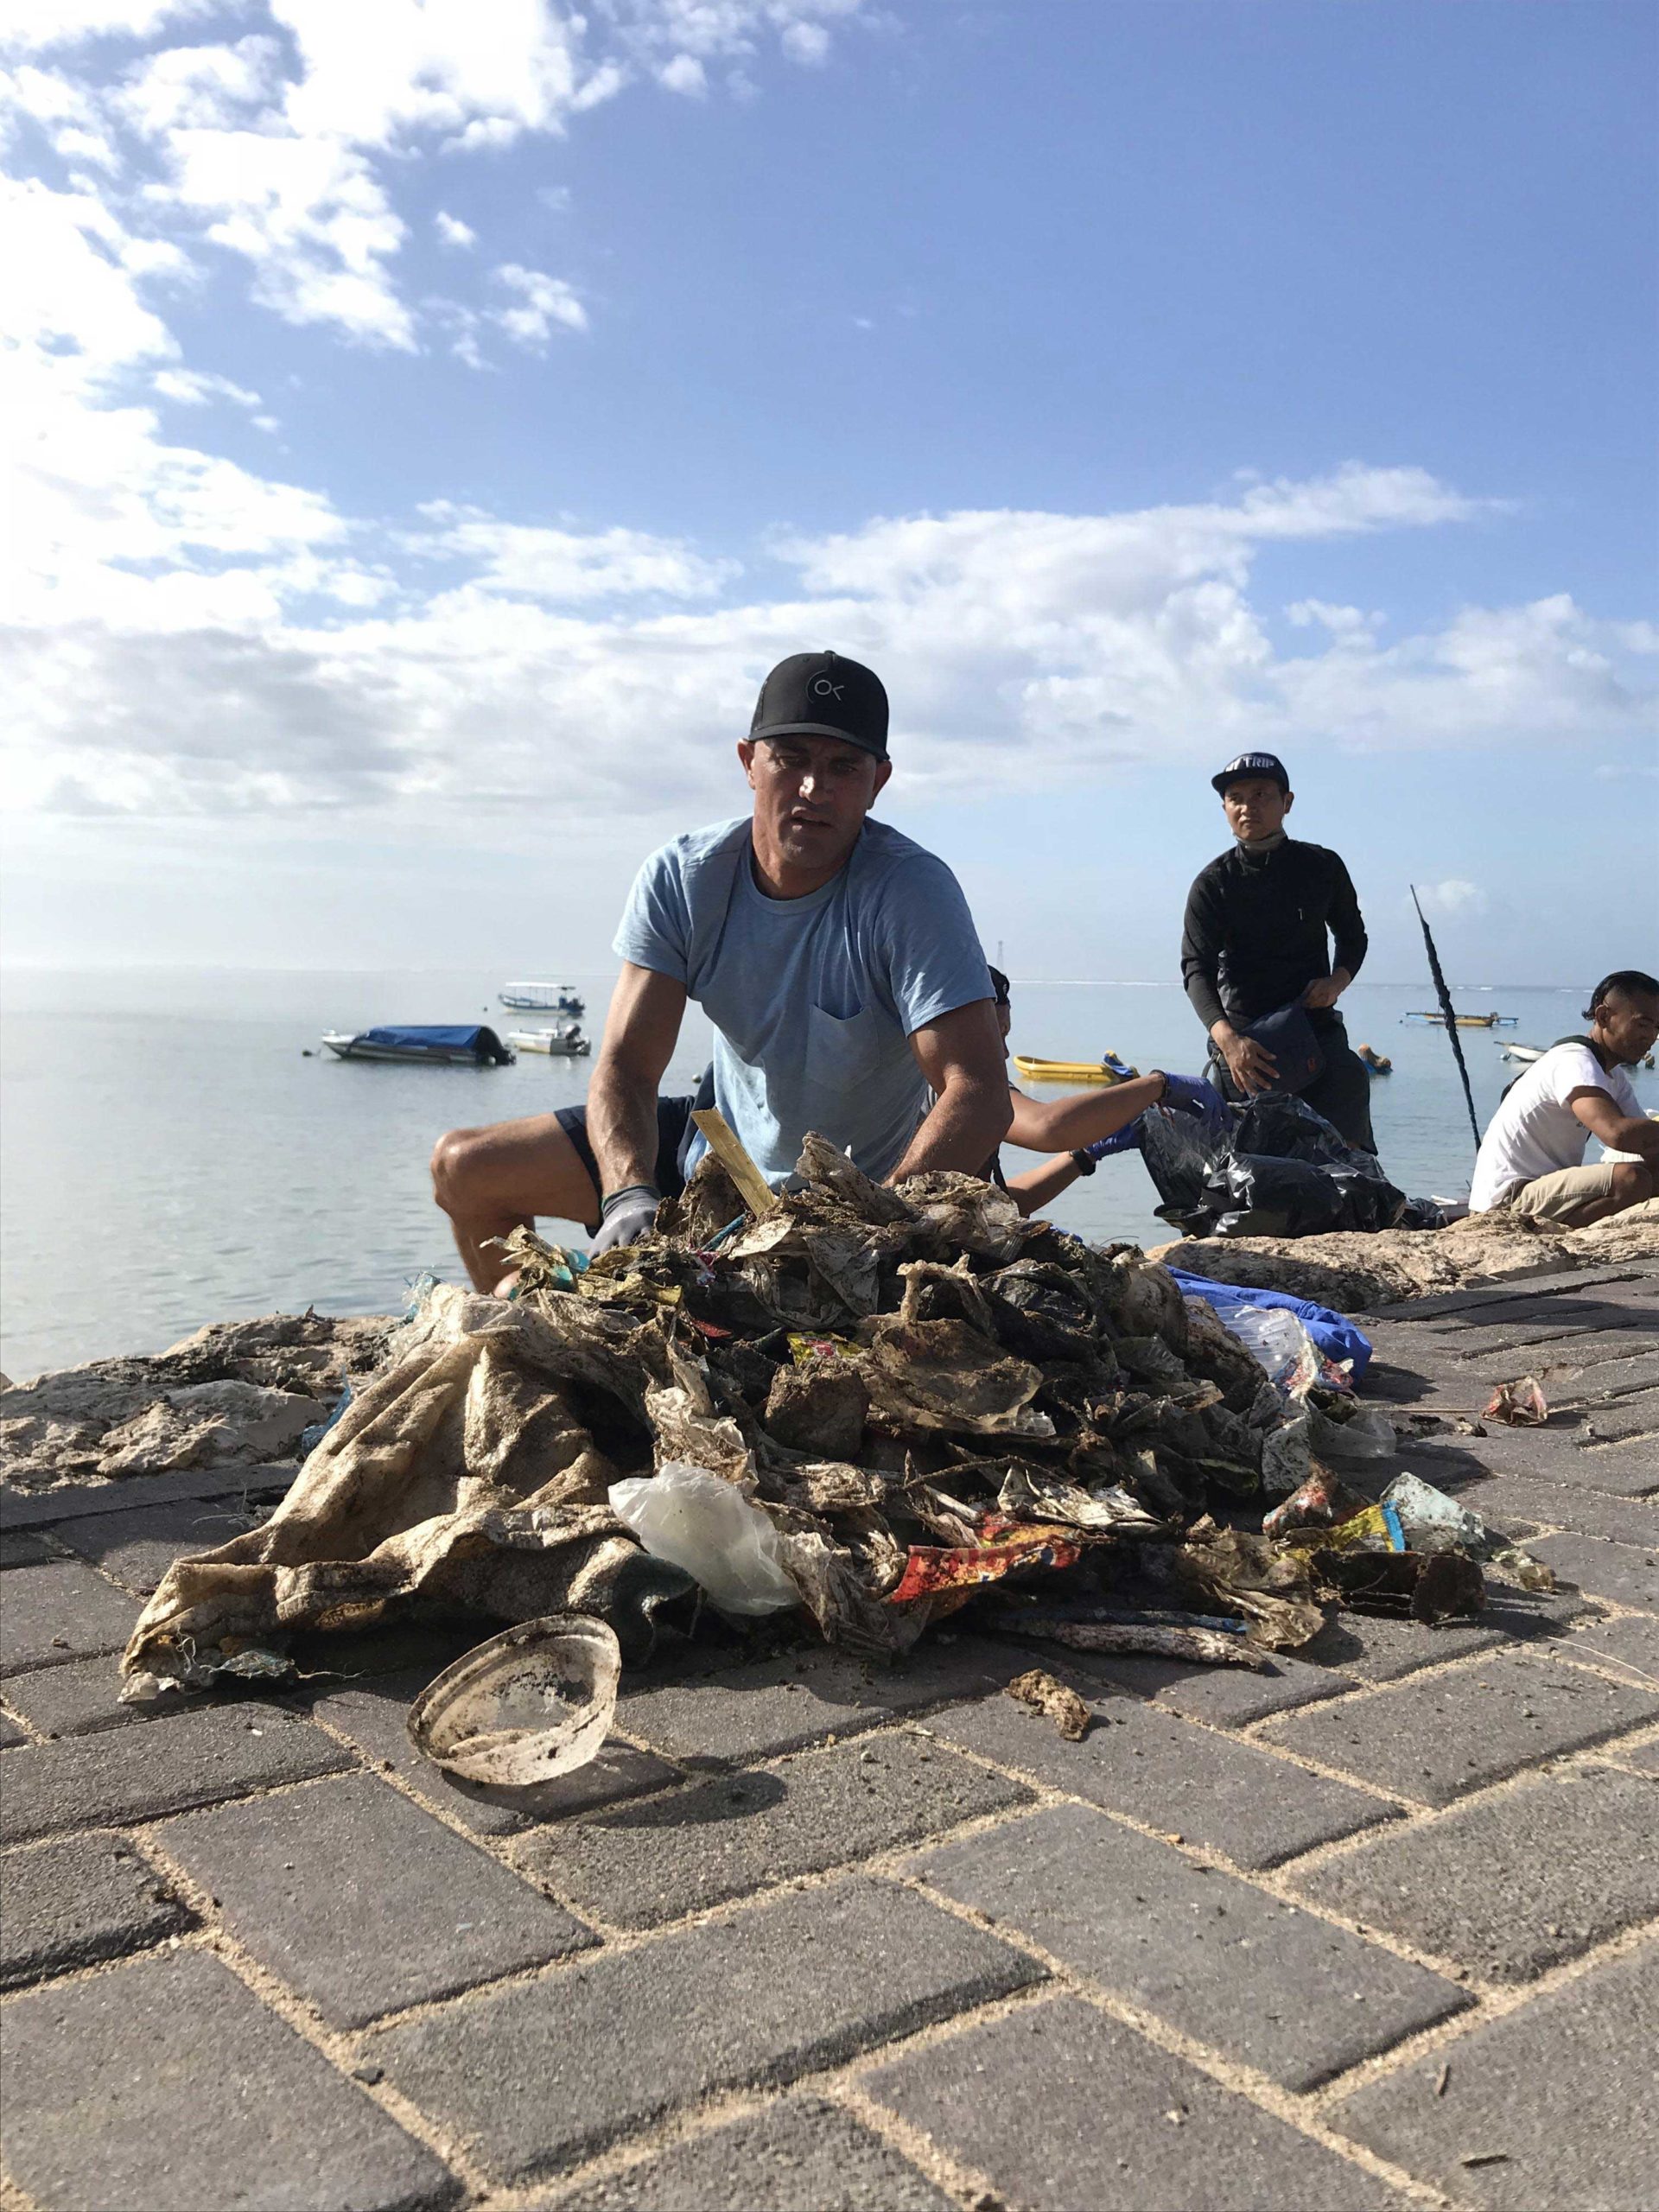
<instances>
[{"instance_id":1,"label":"man in white t-shirt sitting at the right edge","mask_svg":"<svg viewBox=\"0 0 1659 2212\"><path fill-rule=\"evenodd\" d=\"M1659 1121L1630 1086L1659 1037L1659 980L1617 969L1590 993L1588 1037L1564 1037L1504 1093L1480 1141L1469 1210L1511 1206L1531 1221L1582 1230L1641 1206L1659 1188ZM1608 1157L1584 1166L1599 1137Z\"/></svg>"}]
</instances>

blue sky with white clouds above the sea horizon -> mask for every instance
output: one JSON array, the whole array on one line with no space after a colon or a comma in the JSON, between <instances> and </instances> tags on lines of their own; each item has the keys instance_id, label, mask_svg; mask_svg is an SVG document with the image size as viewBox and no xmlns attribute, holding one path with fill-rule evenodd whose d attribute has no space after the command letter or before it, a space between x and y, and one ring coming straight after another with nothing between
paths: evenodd
<instances>
[{"instance_id":1,"label":"blue sky with white clouds above the sea horizon","mask_svg":"<svg viewBox=\"0 0 1659 2212\"><path fill-rule=\"evenodd\" d=\"M1272 748L1371 975L1659 967L1646 0L0 0L18 964L591 971L765 668L1018 978Z\"/></svg>"}]
</instances>

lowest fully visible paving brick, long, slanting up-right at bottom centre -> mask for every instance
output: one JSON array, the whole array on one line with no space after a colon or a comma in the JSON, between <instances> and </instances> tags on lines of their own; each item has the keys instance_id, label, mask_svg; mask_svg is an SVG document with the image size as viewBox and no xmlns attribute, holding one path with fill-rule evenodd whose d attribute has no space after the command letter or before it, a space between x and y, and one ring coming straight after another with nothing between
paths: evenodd
<instances>
[{"instance_id":1,"label":"lowest fully visible paving brick, long, slanting up-right at bottom centre","mask_svg":"<svg viewBox=\"0 0 1659 2212\"><path fill-rule=\"evenodd\" d=\"M792 2081L1035 1980L1009 1944L854 1876L445 2006L365 2051L471 2137L491 2177L518 2181L714 2090Z\"/></svg>"}]
</instances>

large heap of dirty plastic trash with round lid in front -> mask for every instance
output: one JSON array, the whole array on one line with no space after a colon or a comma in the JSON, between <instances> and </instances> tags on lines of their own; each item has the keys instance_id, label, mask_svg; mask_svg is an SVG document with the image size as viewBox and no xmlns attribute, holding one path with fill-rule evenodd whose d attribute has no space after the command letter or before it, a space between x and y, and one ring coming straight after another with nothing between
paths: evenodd
<instances>
[{"instance_id":1,"label":"large heap of dirty plastic trash with round lid in front","mask_svg":"<svg viewBox=\"0 0 1659 2212\"><path fill-rule=\"evenodd\" d=\"M431 1285L272 1517L175 1562L124 1694L283 1679L301 1630L560 1615L542 1644L562 1659L513 1630L420 1701L418 1741L493 1774L538 1712L560 1759L597 1745L606 1655L639 1666L666 1635L810 1617L887 1659L967 1615L1265 1666L1332 1597L1480 1604L1500 1546L1473 1515L1329 1473L1389 1455L1394 1429L1298 1314L1223 1325L1217 1285L1183 1296L1135 1245L1026 1221L964 1175L878 1186L818 1137L779 1194L719 1135L726 1164L644 1243L588 1263L520 1230L511 1301Z\"/></svg>"}]
</instances>

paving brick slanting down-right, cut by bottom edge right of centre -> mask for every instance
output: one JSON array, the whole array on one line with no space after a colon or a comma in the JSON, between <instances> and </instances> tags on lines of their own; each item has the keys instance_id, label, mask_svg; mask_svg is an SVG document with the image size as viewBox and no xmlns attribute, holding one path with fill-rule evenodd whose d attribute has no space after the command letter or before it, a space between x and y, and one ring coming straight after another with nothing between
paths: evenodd
<instances>
[{"instance_id":1,"label":"paving brick slanting down-right, cut by bottom edge right of centre","mask_svg":"<svg viewBox=\"0 0 1659 2212\"><path fill-rule=\"evenodd\" d=\"M1380 2212L1334 2150L1075 1997L1022 2004L863 2088L1020 2212Z\"/></svg>"}]
</instances>

